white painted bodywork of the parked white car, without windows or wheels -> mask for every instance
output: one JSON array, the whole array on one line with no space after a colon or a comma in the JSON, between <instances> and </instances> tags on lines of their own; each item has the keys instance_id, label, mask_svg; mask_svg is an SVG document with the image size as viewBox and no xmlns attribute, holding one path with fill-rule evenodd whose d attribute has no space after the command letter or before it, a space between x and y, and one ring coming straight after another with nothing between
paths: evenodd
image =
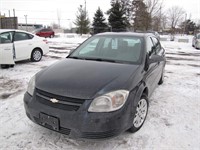
<instances>
[{"instance_id":1,"label":"white painted bodywork of the parked white car, without windows or wheels","mask_svg":"<svg viewBox=\"0 0 200 150\"><path fill-rule=\"evenodd\" d=\"M43 38L38 37L36 35L33 35L26 31L21 30L0 30L0 35L4 33L10 33L11 43L7 44L9 45L9 49L11 48L9 54L2 53L3 58L1 59L0 64L13 64L13 61L21 61L31 58L31 53L35 48L39 48L42 50L43 55L49 52L49 46L44 41ZM24 35L30 35L30 39L23 39L23 40L16 40L15 34L16 33L22 33ZM7 49L6 44L1 43L0 44L0 51L3 51L4 49ZM14 60L13 60L14 59Z\"/></svg>"}]
</instances>

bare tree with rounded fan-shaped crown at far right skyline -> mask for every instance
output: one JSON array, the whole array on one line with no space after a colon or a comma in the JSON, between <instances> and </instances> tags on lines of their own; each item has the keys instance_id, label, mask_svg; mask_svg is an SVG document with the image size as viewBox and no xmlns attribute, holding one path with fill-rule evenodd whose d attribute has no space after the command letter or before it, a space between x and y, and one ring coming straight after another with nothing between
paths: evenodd
<instances>
[{"instance_id":1,"label":"bare tree with rounded fan-shaped crown at far right skyline","mask_svg":"<svg viewBox=\"0 0 200 150\"><path fill-rule=\"evenodd\" d=\"M185 11L178 6L174 6L169 8L167 12L169 24L171 26L172 31L174 31L178 23L180 23L184 18Z\"/></svg>"}]
</instances>

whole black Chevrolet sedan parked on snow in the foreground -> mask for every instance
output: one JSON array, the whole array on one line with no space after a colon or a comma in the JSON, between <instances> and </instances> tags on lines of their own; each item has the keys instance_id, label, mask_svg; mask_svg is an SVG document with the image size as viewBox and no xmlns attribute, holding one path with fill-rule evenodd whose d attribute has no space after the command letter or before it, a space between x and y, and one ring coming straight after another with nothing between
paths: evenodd
<instances>
[{"instance_id":1,"label":"whole black Chevrolet sedan parked on snow in the foreground","mask_svg":"<svg viewBox=\"0 0 200 150\"><path fill-rule=\"evenodd\" d=\"M35 123L72 138L139 130L163 82L165 50L153 34L102 33L31 80L24 96Z\"/></svg>"}]
</instances>

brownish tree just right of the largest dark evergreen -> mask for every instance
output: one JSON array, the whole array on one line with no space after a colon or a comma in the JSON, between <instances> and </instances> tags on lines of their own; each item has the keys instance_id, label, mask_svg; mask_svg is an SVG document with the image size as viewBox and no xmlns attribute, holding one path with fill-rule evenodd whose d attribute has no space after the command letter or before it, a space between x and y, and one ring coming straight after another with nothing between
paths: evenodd
<instances>
[{"instance_id":1,"label":"brownish tree just right of the largest dark evergreen","mask_svg":"<svg viewBox=\"0 0 200 150\"><path fill-rule=\"evenodd\" d=\"M146 31L151 27L151 16L147 12L147 6L143 0L133 0L133 26L134 30Z\"/></svg>"}]
</instances>

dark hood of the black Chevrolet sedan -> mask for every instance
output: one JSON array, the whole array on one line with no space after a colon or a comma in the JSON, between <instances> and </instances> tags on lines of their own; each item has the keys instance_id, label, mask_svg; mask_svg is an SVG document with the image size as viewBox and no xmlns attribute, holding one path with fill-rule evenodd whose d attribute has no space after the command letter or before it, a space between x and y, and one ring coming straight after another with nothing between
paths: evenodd
<instances>
[{"instance_id":1,"label":"dark hood of the black Chevrolet sedan","mask_svg":"<svg viewBox=\"0 0 200 150\"><path fill-rule=\"evenodd\" d=\"M138 65L66 59L39 72L36 88L66 97L93 99L110 91L127 89Z\"/></svg>"}]
</instances>

